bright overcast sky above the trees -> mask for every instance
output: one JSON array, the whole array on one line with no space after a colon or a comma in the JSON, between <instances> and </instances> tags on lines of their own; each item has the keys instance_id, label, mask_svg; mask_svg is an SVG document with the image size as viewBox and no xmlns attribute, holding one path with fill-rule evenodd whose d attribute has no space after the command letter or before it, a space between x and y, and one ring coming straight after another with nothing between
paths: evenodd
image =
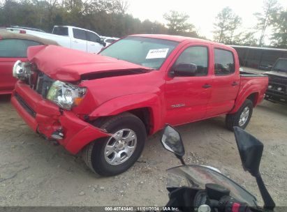
<instances>
[{"instance_id":1,"label":"bright overcast sky above the trees","mask_svg":"<svg viewBox=\"0 0 287 212\"><path fill-rule=\"evenodd\" d=\"M287 8L286 0L278 0ZM229 6L242 17L242 30L254 27L256 17L253 13L261 12L263 0L129 0L128 13L140 20L149 19L165 24L163 14L169 10L177 10L190 16L189 22L196 26L199 33L212 39L213 22L217 13Z\"/></svg>"}]
</instances>

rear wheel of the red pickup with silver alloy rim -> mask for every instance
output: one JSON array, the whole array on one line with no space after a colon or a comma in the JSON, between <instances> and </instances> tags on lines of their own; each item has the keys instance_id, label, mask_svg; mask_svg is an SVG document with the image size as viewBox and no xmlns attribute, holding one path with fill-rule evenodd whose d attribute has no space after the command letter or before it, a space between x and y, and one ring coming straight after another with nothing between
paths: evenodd
<instances>
[{"instance_id":1,"label":"rear wheel of the red pickup with silver alloy rim","mask_svg":"<svg viewBox=\"0 0 287 212\"><path fill-rule=\"evenodd\" d=\"M253 103L251 100L246 99L235 114L226 115L226 127L231 131L233 131L234 126L245 129L251 119L252 112Z\"/></svg>"}]
</instances>

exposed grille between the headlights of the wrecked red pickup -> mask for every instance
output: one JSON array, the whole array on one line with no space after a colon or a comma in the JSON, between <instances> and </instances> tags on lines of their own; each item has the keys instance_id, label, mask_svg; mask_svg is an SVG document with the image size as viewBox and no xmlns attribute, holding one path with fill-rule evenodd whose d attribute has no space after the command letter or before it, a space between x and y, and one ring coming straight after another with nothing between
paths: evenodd
<instances>
[{"instance_id":1,"label":"exposed grille between the headlights of the wrecked red pickup","mask_svg":"<svg viewBox=\"0 0 287 212\"><path fill-rule=\"evenodd\" d=\"M54 79L48 77L41 71L34 71L34 73L32 73L27 80L27 84L29 84L31 89L34 89L43 98L46 98L47 92L49 91L53 82Z\"/></svg>"}]
</instances>

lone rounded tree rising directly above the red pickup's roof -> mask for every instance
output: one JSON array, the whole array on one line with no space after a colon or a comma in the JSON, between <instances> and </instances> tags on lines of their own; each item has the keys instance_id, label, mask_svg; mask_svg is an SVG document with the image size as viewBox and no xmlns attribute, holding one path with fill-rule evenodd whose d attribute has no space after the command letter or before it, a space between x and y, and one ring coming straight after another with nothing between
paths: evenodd
<instances>
[{"instance_id":1,"label":"lone rounded tree rising directly above the red pickup's roof","mask_svg":"<svg viewBox=\"0 0 287 212\"><path fill-rule=\"evenodd\" d=\"M189 15L186 13L179 13L175 10L170 10L169 13L163 15L164 19L168 21L168 32L172 35L179 35L182 33L193 32L193 24L187 22Z\"/></svg>"}]
</instances>

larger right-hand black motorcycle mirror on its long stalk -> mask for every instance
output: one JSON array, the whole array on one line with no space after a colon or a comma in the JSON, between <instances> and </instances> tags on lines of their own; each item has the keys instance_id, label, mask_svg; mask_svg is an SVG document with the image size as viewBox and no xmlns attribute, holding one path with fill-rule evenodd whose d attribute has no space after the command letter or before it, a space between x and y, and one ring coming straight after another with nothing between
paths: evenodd
<instances>
[{"instance_id":1,"label":"larger right-hand black motorcycle mirror on its long stalk","mask_svg":"<svg viewBox=\"0 0 287 212\"><path fill-rule=\"evenodd\" d=\"M233 129L243 168L250 172L252 176L255 176L260 194L263 198L264 209L270 209L273 211L275 203L265 187L259 172L260 160L263 153L263 144L256 139L256 137L253 137L241 128L234 127Z\"/></svg>"}]
</instances>

